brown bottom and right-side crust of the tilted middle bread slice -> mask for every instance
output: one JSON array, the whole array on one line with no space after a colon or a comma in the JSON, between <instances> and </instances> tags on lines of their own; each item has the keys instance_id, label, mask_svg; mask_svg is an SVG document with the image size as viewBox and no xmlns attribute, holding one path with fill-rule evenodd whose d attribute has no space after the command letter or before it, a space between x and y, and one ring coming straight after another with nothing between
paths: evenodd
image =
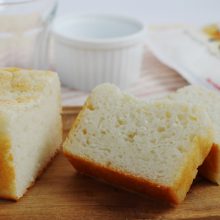
<instances>
[{"instance_id":1,"label":"brown bottom and right-side crust of the tilted middle bread slice","mask_svg":"<svg viewBox=\"0 0 220 220\"><path fill-rule=\"evenodd\" d=\"M210 151L211 139L202 141L196 138L194 143L193 151L190 153L185 166L172 186L160 185L149 179L116 170L110 165L104 166L87 158L72 155L67 151L64 152L64 155L76 170L81 173L104 180L121 188L163 199L170 204L176 205L184 200L193 179L196 177L198 166ZM203 144L203 147L200 147L201 144Z\"/></svg>"}]
</instances>

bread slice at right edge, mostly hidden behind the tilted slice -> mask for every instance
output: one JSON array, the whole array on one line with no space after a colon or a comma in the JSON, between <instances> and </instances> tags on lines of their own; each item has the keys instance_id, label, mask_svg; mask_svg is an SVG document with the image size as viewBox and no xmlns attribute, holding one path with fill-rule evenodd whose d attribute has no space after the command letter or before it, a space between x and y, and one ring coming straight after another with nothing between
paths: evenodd
<instances>
[{"instance_id":1,"label":"bread slice at right edge, mostly hidden behind the tilted slice","mask_svg":"<svg viewBox=\"0 0 220 220\"><path fill-rule=\"evenodd\" d=\"M199 86L187 86L168 95L168 98L200 105L209 114L214 126L214 143L199 172L220 185L220 94Z\"/></svg>"}]
</instances>

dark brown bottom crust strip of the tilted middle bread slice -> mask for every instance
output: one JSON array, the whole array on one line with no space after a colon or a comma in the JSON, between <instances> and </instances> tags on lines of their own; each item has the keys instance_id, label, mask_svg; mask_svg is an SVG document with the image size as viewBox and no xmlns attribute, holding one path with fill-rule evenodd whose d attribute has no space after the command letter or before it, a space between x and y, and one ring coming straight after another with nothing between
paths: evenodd
<instances>
[{"instance_id":1,"label":"dark brown bottom crust strip of the tilted middle bread slice","mask_svg":"<svg viewBox=\"0 0 220 220\"><path fill-rule=\"evenodd\" d=\"M132 191L144 193L156 198L163 198L171 203L177 203L172 189L146 180L141 177L136 177L132 174L125 174L111 167L104 167L95 162L80 158L74 155L65 153L72 165L81 173L89 176L102 179L113 185L120 186Z\"/></svg>"}]
</instances>

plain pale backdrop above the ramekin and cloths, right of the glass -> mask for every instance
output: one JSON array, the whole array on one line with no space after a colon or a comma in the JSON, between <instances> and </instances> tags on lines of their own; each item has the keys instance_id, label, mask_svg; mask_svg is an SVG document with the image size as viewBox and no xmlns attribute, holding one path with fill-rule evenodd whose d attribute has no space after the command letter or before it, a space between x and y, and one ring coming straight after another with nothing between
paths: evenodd
<instances>
[{"instance_id":1,"label":"plain pale backdrop above the ramekin and cloths, right of the glass","mask_svg":"<svg viewBox=\"0 0 220 220\"><path fill-rule=\"evenodd\" d=\"M146 24L220 23L220 0L60 0L58 16L115 13L137 17Z\"/></svg>"}]
</instances>

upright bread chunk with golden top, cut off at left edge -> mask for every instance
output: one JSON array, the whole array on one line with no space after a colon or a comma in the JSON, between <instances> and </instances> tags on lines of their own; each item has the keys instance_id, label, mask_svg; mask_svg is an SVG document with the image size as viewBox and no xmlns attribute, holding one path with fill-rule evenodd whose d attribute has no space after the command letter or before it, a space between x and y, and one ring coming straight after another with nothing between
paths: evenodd
<instances>
[{"instance_id":1,"label":"upright bread chunk with golden top, cut off at left edge","mask_svg":"<svg viewBox=\"0 0 220 220\"><path fill-rule=\"evenodd\" d=\"M22 197L55 155L60 111L56 73L0 69L0 198Z\"/></svg>"}]
</instances>

